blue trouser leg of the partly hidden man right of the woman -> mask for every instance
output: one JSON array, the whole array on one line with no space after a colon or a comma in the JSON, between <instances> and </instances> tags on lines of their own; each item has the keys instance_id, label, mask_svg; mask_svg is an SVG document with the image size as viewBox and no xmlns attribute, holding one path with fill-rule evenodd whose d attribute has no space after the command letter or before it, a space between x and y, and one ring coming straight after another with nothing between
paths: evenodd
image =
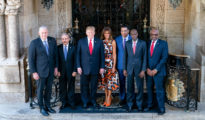
<instances>
[{"instance_id":1,"label":"blue trouser leg of the partly hidden man right of the woman","mask_svg":"<svg viewBox=\"0 0 205 120\"><path fill-rule=\"evenodd\" d=\"M123 74L123 69L118 69L119 73L119 82L120 82L120 100L125 100L125 79L126 77Z\"/></svg>"}]
</instances>

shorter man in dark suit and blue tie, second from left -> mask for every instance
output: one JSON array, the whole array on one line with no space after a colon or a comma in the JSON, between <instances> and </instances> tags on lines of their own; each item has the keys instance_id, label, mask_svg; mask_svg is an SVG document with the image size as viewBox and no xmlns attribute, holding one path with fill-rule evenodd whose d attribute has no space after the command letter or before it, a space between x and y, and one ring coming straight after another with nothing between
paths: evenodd
<instances>
[{"instance_id":1,"label":"shorter man in dark suit and blue tie, second from left","mask_svg":"<svg viewBox=\"0 0 205 120\"><path fill-rule=\"evenodd\" d=\"M60 76L60 109L69 104L72 109L75 107L75 76L76 76L76 47L70 42L70 36L66 33L61 35L62 43L58 46L58 70Z\"/></svg>"}]
</instances>

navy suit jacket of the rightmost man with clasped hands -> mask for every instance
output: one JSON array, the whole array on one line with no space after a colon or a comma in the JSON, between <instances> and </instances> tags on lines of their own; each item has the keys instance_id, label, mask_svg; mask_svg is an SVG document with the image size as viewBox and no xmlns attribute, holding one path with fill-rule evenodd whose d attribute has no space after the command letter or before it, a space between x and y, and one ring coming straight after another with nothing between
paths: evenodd
<instances>
[{"instance_id":1,"label":"navy suit jacket of the rightmost man with clasped hands","mask_svg":"<svg viewBox=\"0 0 205 120\"><path fill-rule=\"evenodd\" d=\"M150 55L151 40L148 42L148 62L147 67L156 69L157 75L166 76L166 63L168 58L168 45L166 41L157 40L152 56Z\"/></svg>"}]
</instances>

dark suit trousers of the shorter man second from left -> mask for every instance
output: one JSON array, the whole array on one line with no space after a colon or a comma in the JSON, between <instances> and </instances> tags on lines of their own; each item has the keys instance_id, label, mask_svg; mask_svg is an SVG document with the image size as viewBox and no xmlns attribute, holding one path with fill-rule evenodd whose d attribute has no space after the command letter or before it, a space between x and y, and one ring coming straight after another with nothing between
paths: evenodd
<instances>
[{"instance_id":1,"label":"dark suit trousers of the shorter man second from left","mask_svg":"<svg viewBox=\"0 0 205 120\"><path fill-rule=\"evenodd\" d=\"M66 73L66 72L65 72ZM75 105L75 78L72 75L63 74L59 81L60 101L62 104Z\"/></svg>"}]
</instances>

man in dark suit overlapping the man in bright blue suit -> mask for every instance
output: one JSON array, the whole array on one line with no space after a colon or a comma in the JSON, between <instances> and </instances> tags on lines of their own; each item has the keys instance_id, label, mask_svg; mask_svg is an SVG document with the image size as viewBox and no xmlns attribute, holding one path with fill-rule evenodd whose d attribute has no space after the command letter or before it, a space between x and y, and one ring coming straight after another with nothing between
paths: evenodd
<instances>
[{"instance_id":1,"label":"man in dark suit overlapping the man in bright blue suit","mask_svg":"<svg viewBox=\"0 0 205 120\"><path fill-rule=\"evenodd\" d=\"M124 51L124 75L127 76L127 105L128 112L132 110L133 96L135 95L134 77L137 84L136 105L138 111L142 111L143 83L147 65L146 42L138 39L138 32L132 29L130 32L132 40L127 41Z\"/></svg>"}]
</instances>

